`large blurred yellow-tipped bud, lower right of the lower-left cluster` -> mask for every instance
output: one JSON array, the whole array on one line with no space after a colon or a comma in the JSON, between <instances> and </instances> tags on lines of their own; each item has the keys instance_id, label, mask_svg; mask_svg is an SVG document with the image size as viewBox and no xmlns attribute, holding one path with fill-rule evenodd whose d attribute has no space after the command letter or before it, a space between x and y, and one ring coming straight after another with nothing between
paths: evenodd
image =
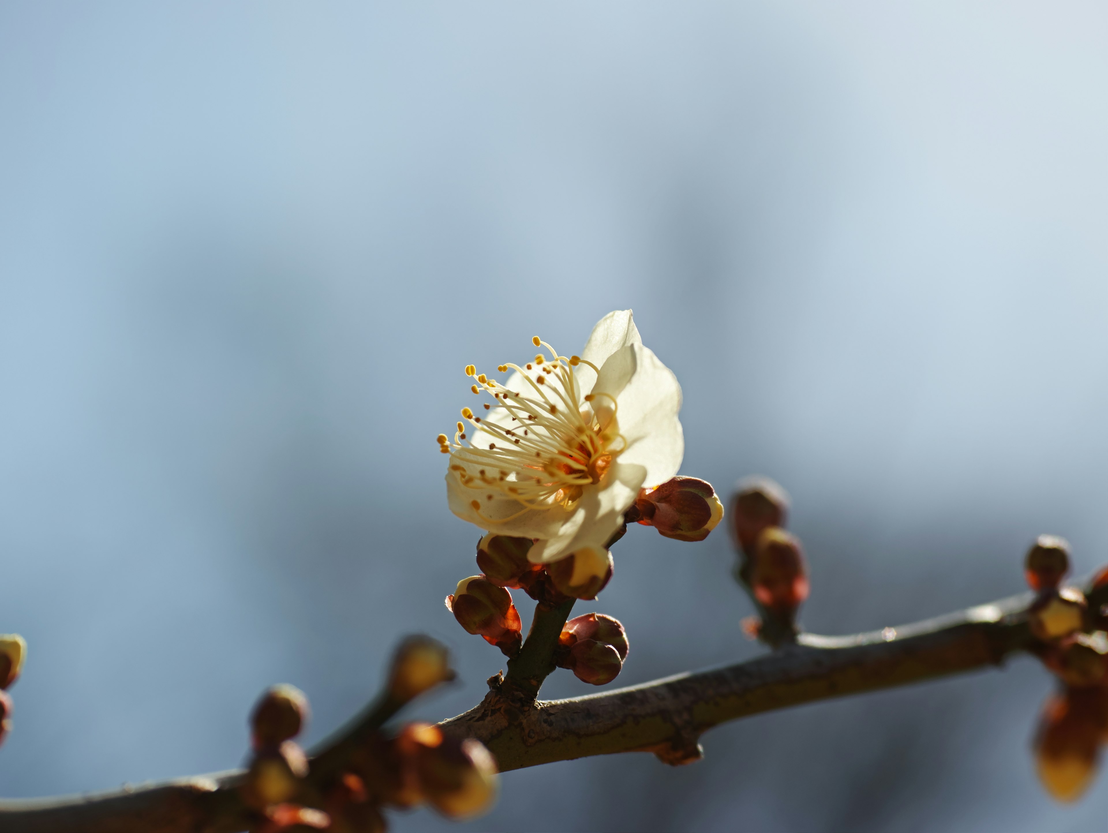
<instances>
[{"instance_id":1,"label":"large blurred yellow-tipped bud, lower right of the lower-left cluster","mask_svg":"<svg viewBox=\"0 0 1108 833\"><path fill-rule=\"evenodd\" d=\"M496 763L480 741L448 738L439 727L410 723L397 735L396 746L409 801L418 794L456 820L479 815L495 799Z\"/></svg>"}]
</instances>

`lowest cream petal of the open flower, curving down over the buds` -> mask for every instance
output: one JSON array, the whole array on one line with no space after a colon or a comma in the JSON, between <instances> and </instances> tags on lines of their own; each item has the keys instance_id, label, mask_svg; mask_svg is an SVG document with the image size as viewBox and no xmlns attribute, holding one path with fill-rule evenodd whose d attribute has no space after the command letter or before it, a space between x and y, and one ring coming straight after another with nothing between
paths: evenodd
<instances>
[{"instance_id":1,"label":"lowest cream petal of the open flower, curving down over the buds","mask_svg":"<svg viewBox=\"0 0 1108 833\"><path fill-rule=\"evenodd\" d=\"M550 563L574 552L582 547L604 548L608 539L623 525L623 514L635 502L638 490L646 478L643 466L627 465L620 457L612 464L604 480L596 486L586 486L581 500L574 507L573 517L555 536L532 536L544 538L527 552L532 563Z\"/></svg>"}]
</instances>

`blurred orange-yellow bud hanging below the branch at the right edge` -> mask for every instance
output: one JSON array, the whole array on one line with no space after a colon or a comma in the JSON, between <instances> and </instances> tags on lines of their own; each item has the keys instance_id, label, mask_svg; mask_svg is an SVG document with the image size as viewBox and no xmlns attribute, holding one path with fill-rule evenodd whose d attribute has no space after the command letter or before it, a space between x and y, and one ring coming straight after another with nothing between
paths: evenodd
<instances>
[{"instance_id":1,"label":"blurred orange-yellow bud hanging below the branch at the right edge","mask_svg":"<svg viewBox=\"0 0 1108 833\"><path fill-rule=\"evenodd\" d=\"M1035 738L1039 780L1058 801L1076 801L1097 769L1104 732L1104 692L1070 689L1047 700Z\"/></svg>"}]
</instances>

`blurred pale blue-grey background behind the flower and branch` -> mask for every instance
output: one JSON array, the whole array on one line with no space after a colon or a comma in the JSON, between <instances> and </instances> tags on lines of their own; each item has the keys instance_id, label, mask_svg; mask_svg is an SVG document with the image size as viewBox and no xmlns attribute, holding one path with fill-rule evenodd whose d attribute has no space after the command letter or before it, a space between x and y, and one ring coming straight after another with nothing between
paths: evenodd
<instances>
[{"instance_id":1,"label":"blurred pale blue-grey background behind the flower and branch","mask_svg":"<svg viewBox=\"0 0 1108 833\"><path fill-rule=\"evenodd\" d=\"M810 629L1018 592L1039 532L1108 560L1106 26L0 3L0 631L30 642L0 793L235 766L278 681L317 740L417 630L463 682L416 713L475 703L503 658L442 605L479 532L434 436L466 363L578 351L614 308L684 386L683 474L792 494ZM618 684L760 652L721 532L618 545ZM1108 775L1075 806L1035 780L1050 687L1019 660L731 723L680 770L512 772L470 827L1101 829Z\"/></svg>"}]
</instances>

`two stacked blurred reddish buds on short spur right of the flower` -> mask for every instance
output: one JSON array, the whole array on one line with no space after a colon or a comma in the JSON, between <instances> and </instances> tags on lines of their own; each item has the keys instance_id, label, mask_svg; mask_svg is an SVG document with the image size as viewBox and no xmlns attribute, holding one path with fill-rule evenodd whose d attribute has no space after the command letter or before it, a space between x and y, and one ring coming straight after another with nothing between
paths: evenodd
<instances>
[{"instance_id":1,"label":"two stacked blurred reddish buds on short spur right of the flower","mask_svg":"<svg viewBox=\"0 0 1108 833\"><path fill-rule=\"evenodd\" d=\"M772 480L750 478L736 486L730 512L739 552L735 576L761 612L748 630L771 644L793 638L809 590L800 540L784 528L788 515L789 496Z\"/></svg>"}]
</instances>

